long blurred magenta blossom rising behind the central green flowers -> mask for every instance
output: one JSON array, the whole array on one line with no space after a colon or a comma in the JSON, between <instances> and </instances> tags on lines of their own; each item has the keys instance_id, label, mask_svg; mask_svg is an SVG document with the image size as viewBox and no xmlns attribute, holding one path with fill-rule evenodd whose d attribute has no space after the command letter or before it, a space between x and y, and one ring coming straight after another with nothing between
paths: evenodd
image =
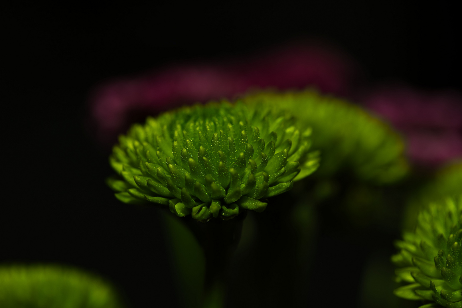
<instances>
[{"instance_id":1,"label":"long blurred magenta blossom rising behind the central green flowers","mask_svg":"<svg viewBox=\"0 0 462 308\"><path fill-rule=\"evenodd\" d=\"M252 88L301 89L345 94L353 65L328 48L294 45L266 55L221 63L167 67L101 86L91 99L97 138L111 144L134 114L156 114L182 104L232 99ZM140 120L140 119L137 119Z\"/></svg>"}]
</instances>

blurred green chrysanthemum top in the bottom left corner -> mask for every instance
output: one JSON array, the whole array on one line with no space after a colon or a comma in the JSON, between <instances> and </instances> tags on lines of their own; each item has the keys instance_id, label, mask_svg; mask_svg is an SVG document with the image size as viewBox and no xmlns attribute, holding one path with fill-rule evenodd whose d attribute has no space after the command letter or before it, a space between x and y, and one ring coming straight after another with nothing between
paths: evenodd
<instances>
[{"instance_id":1,"label":"blurred green chrysanthemum top in the bottom left corner","mask_svg":"<svg viewBox=\"0 0 462 308\"><path fill-rule=\"evenodd\" d=\"M61 266L0 266L2 308L118 308L100 278Z\"/></svg>"}]
</instances>

